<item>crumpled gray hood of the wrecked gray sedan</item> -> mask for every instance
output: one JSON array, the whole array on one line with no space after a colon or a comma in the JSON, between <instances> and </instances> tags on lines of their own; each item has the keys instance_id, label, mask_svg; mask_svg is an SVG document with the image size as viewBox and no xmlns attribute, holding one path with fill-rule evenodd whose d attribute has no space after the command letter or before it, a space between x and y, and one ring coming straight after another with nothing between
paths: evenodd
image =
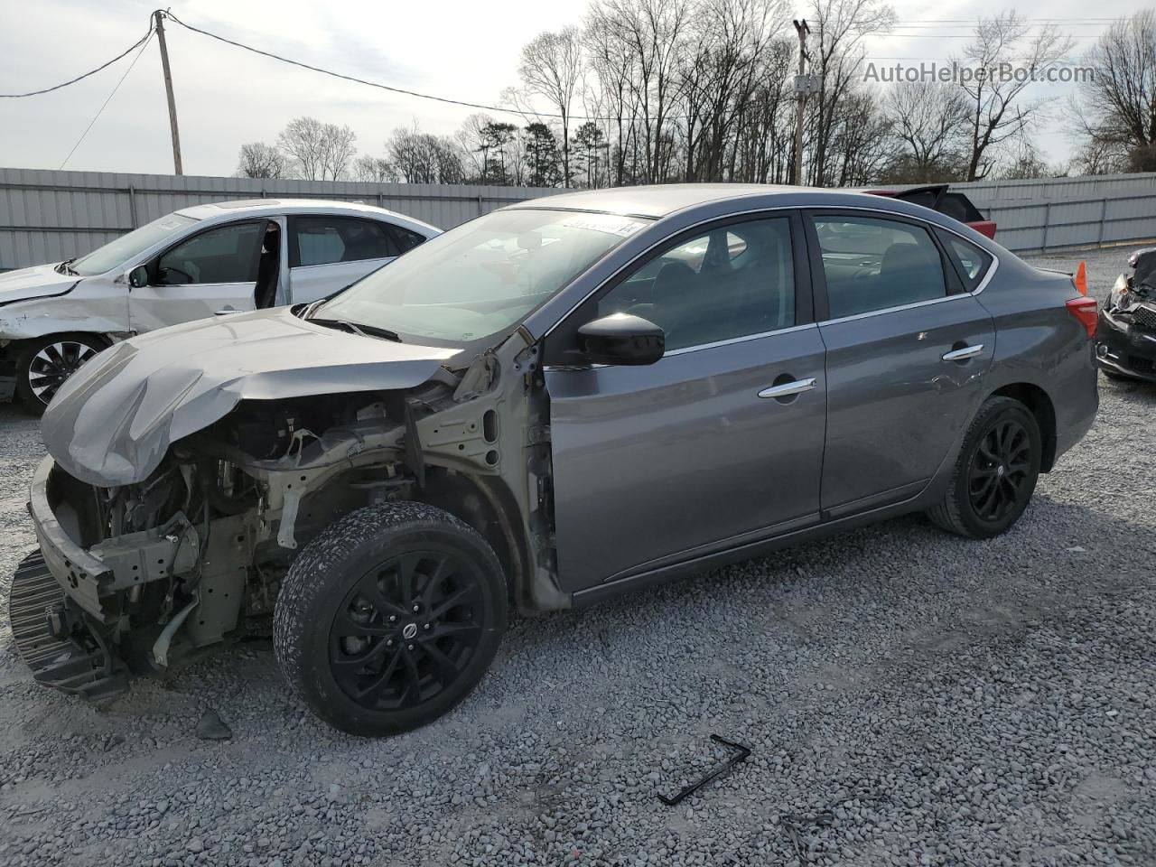
<instances>
[{"instance_id":1,"label":"crumpled gray hood of the wrecked gray sedan","mask_svg":"<svg viewBox=\"0 0 1156 867\"><path fill-rule=\"evenodd\" d=\"M455 353L324 328L287 307L202 319L101 353L60 387L40 430L76 479L133 484L242 400L410 388Z\"/></svg>"}]
</instances>

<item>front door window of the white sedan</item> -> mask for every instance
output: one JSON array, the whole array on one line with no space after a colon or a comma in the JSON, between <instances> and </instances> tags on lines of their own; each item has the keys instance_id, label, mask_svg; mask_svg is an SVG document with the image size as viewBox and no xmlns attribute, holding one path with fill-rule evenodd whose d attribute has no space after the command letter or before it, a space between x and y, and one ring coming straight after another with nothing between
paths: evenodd
<instances>
[{"instance_id":1,"label":"front door window of the white sedan","mask_svg":"<svg viewBox=\"0 0 1156 867\"><path fill-rule=\"evenodd\" d=\"M157 260L156 283L249 283L257 280L262 221L229 223L194 235Z\"/></svg>"}]
</instances>

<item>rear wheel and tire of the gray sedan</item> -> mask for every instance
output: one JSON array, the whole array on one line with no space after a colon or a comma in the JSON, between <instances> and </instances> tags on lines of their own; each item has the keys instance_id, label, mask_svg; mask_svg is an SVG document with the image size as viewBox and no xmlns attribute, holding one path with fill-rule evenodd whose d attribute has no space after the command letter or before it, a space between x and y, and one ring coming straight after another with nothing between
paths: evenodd
<instances>
[{"instance_id":1,"label":"rear wheel and tire of the gray sedan","mask_svg":"<svg viewBox=\"0 0 1156 867\"><path fill-rule=\"evenodd\" d=\"M1043 437L1023 403L988 398L968 428L932 523L969 539L991 539L1020 520L1036 490Z\"/></svg>"}]
</instances>

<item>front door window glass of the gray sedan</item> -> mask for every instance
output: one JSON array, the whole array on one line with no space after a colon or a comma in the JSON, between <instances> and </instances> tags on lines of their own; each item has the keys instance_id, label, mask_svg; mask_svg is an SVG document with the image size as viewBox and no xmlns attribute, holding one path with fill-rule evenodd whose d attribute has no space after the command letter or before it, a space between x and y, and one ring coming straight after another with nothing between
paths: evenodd
<instances>
[{"instance_id":1,"label":"front door window glass of the gray sedan","mask_svg":"<svg viewBox=\"0 0 1156 867\"><path fill-rule=\"evenodd\" d=\"M795 324L788 217L751 220L676 243L598 303L598 316L632 313L666 332L667 351Z\"/></svg>"}]
</instances>

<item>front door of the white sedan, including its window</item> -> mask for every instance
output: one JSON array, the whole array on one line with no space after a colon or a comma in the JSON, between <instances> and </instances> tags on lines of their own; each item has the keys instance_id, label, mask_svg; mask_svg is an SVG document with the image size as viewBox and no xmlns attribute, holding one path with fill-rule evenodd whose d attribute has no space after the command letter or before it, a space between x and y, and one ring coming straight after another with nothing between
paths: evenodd
<instances>
[{"instance_id":1,"label":"front door of the white sedan, including its window","mask_svg":"<svg viewBox=\"0 0 1156 867\"><path fill-rule=\"evenodd\" d=\"M148 264L148 286L128 294L128 319L141 333L255 307L266 220L215 225L178 242Z\"/></svg>"}]
</instances>

